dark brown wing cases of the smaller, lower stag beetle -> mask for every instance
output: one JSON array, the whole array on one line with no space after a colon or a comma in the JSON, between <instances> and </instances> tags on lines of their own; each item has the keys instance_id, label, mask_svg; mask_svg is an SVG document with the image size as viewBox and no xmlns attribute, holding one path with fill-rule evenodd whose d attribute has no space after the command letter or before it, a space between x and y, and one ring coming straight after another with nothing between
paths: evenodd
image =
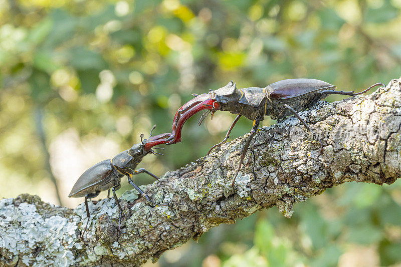
<instances>
[{"instance_id":1,"label":"dark brown wing cases of the smaller, lower stag beetle","mask_svg":"<svg viewBox=\"0 0 401 267\"><path fill-rule=\"evenodd\" d=\"M116 181L117 177L117 170L111 165L110 159L100 161L82 173L68 197L83 197L110 189L119 183Z\"/></svg>"}]
</instances>

